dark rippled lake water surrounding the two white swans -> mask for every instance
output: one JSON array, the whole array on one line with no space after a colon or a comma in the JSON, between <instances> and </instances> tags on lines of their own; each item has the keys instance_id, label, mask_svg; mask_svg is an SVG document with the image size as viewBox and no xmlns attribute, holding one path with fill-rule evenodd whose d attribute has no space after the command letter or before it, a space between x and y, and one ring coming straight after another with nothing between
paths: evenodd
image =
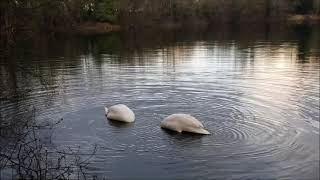
<instances>
[{"instance_id":1,"label":"dark rippled lake water surrounding the two white swans","mask_svg":"<svg viewBox=\"0 0 320 180\"><path fill-rule=\"evenodd\" d=\"M62 117L52 143L97 145L88 172L99 178L318 179L319 28L260 31L25 44L0 66L1 117L32 106L39 121ZM106 120L103 107L117 103L135 123ZM177 112L212 134L160 129Z\"/></svg>"}]
</instances>

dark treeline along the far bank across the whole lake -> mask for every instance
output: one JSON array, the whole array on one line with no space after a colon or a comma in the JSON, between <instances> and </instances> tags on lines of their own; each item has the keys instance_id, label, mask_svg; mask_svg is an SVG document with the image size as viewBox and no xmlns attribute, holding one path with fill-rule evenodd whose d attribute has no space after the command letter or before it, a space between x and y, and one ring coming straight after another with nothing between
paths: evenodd
<instances>
[{"instance_id":1,"label":"dark treeline along the far bank across the whole lake","mask_svg":"<svg viewBox=\"0 0 320 180\"><path fill-rule=\"evenodd\" d=\"M2 0L1 45L17 32L72 29L84 21L139 24L279 21L320 13L320 0Z\"/></svg>"}]
</instances>

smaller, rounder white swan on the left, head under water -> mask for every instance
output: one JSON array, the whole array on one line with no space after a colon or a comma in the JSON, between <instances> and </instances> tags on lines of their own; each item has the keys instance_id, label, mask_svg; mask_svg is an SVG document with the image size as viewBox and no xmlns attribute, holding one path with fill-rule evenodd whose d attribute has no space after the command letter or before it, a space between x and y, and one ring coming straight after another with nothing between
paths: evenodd
<instances>
[{"instance_id":1,"label":"smaller, rounder white swan on the left, head under water","mask_svg":"<svg viewBox=\"0 0 320 180\"><path fill-rule=\"evenodd\" d=\"M110 120L133 122L135 119L133 111L124 104L117 104L109 108L105 107L104 109L107 118Z\"/></svg>"}]
</instances>

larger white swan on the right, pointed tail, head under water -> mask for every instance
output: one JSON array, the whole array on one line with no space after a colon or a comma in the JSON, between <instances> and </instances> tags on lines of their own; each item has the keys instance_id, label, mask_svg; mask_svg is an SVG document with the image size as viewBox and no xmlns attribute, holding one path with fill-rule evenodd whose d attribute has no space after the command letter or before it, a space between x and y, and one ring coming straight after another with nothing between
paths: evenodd
<instances>
[{"instance_id":1,"label":"larger white swan on the right, pointed tail, head under water","mask_svg":"<svg viewBox=\"0 0 320 180\"><path fill-rule=\"evenodd\" d=\"M161 128L179 133L185 131L197 134L210 134L210 132L204 129L200 121L188 114L172 114L166 117L160 126Z\"/></svg>"}]
</instances>

